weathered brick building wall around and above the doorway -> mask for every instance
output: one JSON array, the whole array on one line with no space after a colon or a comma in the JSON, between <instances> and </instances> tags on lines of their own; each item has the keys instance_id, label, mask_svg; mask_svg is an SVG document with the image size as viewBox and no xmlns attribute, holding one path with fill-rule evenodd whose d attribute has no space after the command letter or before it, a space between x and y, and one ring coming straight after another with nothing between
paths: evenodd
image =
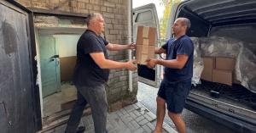
<instances>
[{"instance_id":1,"label":"weathered brick building wall around and above the doorway","mask_svg":"<svg viewBox=\"0 0 256 133\"><path fill-rule=\"evenodd\" d=\"M105 37L108 42L125 44L127 37L127 4L130 0L16 0L26 8L44 9L55 12L80 14L86 16L89 13L100 13L105 19ZM56 16L35 16L36 27L65 26L86 27L75 18L61 19ZM125 61L128 58L127 51L109 52L109 58L117 61ZM128 71L126 69L112 69L106 86L109 109L123 107L137 99L137 73L133 72L133 91L128 90Z\"/></svg>"}]
</instances>

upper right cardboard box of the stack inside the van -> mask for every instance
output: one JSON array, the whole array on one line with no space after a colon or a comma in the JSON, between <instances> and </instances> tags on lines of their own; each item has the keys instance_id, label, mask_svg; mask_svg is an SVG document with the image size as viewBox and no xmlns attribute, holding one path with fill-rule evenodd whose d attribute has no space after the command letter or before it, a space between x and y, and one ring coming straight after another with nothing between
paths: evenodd
<instances>
[{"instance_id":1,"label":"upper right cardboard box of the stack inside the van","mask_svg":"<svg viewBox=\"0 0 256 133\"><path fill-rule=\"evenodd\" d=\"M216 58L216 69L234 70L236 65L235 58Z\"/></svg>"}]
</instances>

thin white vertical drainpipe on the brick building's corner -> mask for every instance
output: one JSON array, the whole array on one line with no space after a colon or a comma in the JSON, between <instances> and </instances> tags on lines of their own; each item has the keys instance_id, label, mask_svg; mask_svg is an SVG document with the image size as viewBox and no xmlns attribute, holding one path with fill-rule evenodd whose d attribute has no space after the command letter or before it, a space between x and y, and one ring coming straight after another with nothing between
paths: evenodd
<instances>
[{"instance_id":1,"label":"thin white vertical drainpipe on the brick building's corner","mask_svg":"<svg viewBox=\"0 0 256 133\"><path fill-rule=\"evenodd\" d=\"M131 43L131 0L127 0L127 21L128 21L128 43ZM132 59L131 57L131 49L128 50L128 58L129 60ZM132 91L132 72L129 70L129 91Z\"/></svg>"}]
</instances>

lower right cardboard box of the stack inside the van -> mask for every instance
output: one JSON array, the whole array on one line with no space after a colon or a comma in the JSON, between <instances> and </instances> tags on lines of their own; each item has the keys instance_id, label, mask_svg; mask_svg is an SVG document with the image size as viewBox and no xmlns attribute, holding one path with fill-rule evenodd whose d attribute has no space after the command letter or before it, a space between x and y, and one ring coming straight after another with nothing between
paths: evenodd
<instances>
[{"instance_id":1,"label":"lower right cardboard box of the stack inside the van","mask_svg":"<svg viewBox=\"0 0 256 133\"><path fill-rule=\"evenodd\" d=\"M232 86L232 70L213 69L212 81Z\"/></svg>"}]
</instances>

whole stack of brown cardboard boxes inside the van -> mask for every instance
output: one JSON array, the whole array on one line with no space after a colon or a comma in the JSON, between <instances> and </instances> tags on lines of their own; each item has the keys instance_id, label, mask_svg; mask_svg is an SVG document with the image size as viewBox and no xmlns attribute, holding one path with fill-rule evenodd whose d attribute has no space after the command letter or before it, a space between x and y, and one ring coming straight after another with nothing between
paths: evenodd
<instances>
[{"instance_id":1,"label":"whole stack of brown cardboard boxes inside the van","mask_svg":"<svg viewBox=\"0 0 256 133\"><path fill-rule=\"evenodd\" d=\"M218 82L232 86L235 58L204 57L204 69L201 74L202 80Z\"/></svg>"}]
</instances>

